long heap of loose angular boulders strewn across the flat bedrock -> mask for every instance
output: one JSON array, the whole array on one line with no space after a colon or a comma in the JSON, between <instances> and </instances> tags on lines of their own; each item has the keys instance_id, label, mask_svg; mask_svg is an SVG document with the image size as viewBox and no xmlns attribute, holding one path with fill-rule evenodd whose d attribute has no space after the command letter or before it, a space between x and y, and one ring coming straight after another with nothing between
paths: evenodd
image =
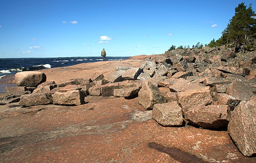
<instances>
[{"instance_id":1,"label":"long heap of loose angular boulders strewn across the flat bedrock","mask_svg":"<svg viewBox=\"0 0 256 163\"><path fill-rule=\"evenodd\" d=\"M19 101L20 106L81 105L89 95L138 97L139 104L153 110L157 123L182 127L187 121L195 127L227 129L242 154L252 156L256 154L255 63L256 51L177 49L148 57L140 67L116 67L105 76L95 73L90 79L60 84L45 82L43 73L35 77L34 71L20 72L15 75L19 87L7 88L0 100L1 104ZM23 73L38 80L34 85L26 83L31 79L18 82Z\"/></svg>"}]
</instances>

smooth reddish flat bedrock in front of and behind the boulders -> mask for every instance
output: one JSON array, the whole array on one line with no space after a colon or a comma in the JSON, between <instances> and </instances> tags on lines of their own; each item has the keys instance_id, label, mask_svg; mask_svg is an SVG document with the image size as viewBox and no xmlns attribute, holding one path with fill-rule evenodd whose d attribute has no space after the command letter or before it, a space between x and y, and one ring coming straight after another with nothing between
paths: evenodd
<instances>
[{"instance_id":1,"label":"smooth reddish flat bedrock in front of and behind the boulders","mask_svg":"<svg viewBox=\"0 0 256 163\"><path fill-rule=\"evenodd\" d=\"M40 71L61 83L139 63L135 59L107 61ZM79 106L0 106L0 163L256 162L255 157L238 151L227 131L187 124L162 127L151 119L152 111L138 104L138 97L87 96L85 102Z\"/></svg>"}]
</instances>

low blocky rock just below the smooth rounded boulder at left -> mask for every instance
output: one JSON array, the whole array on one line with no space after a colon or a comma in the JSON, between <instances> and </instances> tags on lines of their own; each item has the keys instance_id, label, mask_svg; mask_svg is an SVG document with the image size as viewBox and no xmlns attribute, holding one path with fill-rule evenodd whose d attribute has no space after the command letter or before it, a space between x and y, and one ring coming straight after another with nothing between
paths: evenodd
<instances>
[{"instance_id":1,"label":"low blocky rock just below the smooth rounded boulder at left","mask_svg":"<svg viewBox=\"0 0 256 163\"><path fill-rule=\"evenodd\" d=\"M32 93L20 96L20 106L48 105L52 104L52 94L50 93Z\"/></svg>"}]
</instances>

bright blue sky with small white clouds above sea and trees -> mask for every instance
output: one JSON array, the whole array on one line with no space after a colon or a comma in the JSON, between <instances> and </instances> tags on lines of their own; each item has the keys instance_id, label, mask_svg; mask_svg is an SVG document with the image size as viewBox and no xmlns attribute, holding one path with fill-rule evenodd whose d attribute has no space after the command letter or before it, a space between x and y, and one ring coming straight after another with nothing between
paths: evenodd
<instances>
[{"instance_id":1,"label":"bright blue sky with small white clouds above sea and trees","mask_svg":"<svg viewBox=\"0 0 256 163\"><path fill-rule=\"evenodd\" d=\"M255 0L0 0L0 58L162 54L218 39Z\"/></svg>"}]
</instances>

